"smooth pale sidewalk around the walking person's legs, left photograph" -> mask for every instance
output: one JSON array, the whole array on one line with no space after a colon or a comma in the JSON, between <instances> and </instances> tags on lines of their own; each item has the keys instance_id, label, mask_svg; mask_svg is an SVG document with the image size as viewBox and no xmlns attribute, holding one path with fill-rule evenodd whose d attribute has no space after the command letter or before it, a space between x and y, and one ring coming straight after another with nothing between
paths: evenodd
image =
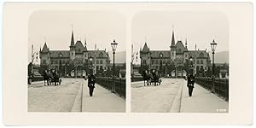
<instances>
[{"instance_id":1,"label":"smooth pale sidewalk around the walking person's legs, left photograph","mask_svg":"<svg viewBox=\"0 0 256 128\"><path fill-rule=\"evenodd\" d=\"M83 83L82 112L125 113L125 99L95 84L93 95L89 96L87 81Z\"/></svg>"}]
</instances>

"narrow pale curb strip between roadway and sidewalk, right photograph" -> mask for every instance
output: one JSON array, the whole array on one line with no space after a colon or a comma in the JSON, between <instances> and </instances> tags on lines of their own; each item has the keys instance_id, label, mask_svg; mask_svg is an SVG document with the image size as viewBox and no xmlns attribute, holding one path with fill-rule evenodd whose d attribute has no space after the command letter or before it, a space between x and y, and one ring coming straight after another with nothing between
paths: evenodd
<instances>
[{"instance_id":1,"label":"narrow pale curb strip between roadway and sidewalk, right photograph","mask_svg":"<svg viewBox=\"0 0 256 128\"><path fill-rule=\"evenodd\" d=\"M184 81L183 81L184 84ZM179 87L177 91L177 95L172 102L172 108L169 113L180 113L181 102L182 102L182 94L183 94L183 84Z\"/></svg>"}]
</instances>

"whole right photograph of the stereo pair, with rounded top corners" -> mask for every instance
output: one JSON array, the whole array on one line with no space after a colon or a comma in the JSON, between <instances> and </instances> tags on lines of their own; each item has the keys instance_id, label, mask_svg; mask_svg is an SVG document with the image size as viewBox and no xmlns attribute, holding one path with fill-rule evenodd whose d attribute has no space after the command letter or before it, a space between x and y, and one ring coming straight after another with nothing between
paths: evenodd
<instances>
[{"instance_id":1,"label":"whole right photograph of the stereo pair, with rounded top corners","mask_svg":"<svg viewBox=\"0 0 256 128\"><path fill-rule=\"evenodd\" d=\"M143 11L131 32L131 113L229 113L224 14Z\"/></svg>"}]
</instances>

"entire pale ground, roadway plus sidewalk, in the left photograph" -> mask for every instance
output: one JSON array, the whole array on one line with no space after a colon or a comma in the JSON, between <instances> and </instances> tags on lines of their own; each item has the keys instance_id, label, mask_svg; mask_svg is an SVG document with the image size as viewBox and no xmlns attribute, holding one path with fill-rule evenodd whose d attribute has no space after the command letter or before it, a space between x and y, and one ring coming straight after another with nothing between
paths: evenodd
<instances>
[{"instance_id":1,"label":"entire pale ground, roadway plus sidewalk, in the left photograph","mask_svg":"<svg viewBox=\"0 0 256 128\"><path fill-rule=\"evenodd\" d=\"M125 112L125 99L96 84L89 96L84 79L62 79L61 85L28 85L28 112Z\"/></svg>"}]
</instances>

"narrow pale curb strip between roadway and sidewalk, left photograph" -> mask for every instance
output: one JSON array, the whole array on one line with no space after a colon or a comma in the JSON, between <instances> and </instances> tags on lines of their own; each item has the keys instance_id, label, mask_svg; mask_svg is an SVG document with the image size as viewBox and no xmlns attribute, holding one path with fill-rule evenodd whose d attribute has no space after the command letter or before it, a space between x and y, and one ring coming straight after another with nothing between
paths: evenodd
<instances>
[{"instance_id":1,"label":"narrow pale curb strip between roadway and sidewalk, left photograph","mask_svg":"<svg viewBox=\"0 0 256 128\"><path fill-rule=\"evenodd\" d=\"M71 112L82 112L82 101L83 101L83 88L84 88L84 81L82 81L82 85L79 88L79 92L75 97L75 101L73 102L73 108Z\"/></svg>"}]
</instances>

